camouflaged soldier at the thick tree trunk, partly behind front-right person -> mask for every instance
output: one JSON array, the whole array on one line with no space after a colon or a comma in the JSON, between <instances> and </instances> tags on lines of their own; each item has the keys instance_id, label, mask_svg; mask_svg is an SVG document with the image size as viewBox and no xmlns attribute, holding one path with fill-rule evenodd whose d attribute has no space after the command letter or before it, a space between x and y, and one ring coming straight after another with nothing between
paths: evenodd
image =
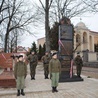
<instances>
[{"instance_id":1,"label":"camouflaged soldier at the thick tree trunk, partly behind front-right person","mask_svg":"<svg viewBox=\"0 0 98 98\"><path fill-rule=\"evenodd\" d=\"M44 67L44 75L45 75L45 79L49 79L48 75L49 75L49 61L50 61L50 56L49 56L49 52L45 52L45 55L42 57L42 62L43 62L43 67Z\"/></svg>"}]
</instances>

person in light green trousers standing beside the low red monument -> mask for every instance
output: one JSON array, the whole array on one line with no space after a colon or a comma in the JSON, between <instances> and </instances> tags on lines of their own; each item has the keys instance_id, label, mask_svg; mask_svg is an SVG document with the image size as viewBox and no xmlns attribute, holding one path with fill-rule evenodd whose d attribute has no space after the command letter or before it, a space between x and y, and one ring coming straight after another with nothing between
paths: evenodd
<instances>
[{"instance_id":1,"label":"person in light green trousers standing beside the low red monument","mask_svg":"<svg viewBox=\"0 0 98 98\"><path fill-rule=\"evenodd\" d=\"M27 66L23 62L22 55L19 55L18 59L19 61L14 66L14 76L17 84L17 96L20 96L20 90L21 94L24 96L25 78L27 76Z\"/></svg>"}]
</instances>

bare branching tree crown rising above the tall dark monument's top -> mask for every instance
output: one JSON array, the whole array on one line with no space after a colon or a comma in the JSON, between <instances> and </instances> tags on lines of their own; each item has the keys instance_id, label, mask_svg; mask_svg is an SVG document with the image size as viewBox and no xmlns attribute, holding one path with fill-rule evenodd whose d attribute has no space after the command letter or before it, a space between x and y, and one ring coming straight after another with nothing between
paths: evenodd
<instances>
[{"instance_id":1,"label":"bare branching tree crown rising above the tall dark monument's top","mask_svg":"<svg viewBox=\"0 0 98 98\"><path fill-rule=\"evenodd\" d=\"M54 0L51 6L51 20L59 22L64 16L73 18L87 12L87 6L82 0Z\"/></svg>"}]
</instances>

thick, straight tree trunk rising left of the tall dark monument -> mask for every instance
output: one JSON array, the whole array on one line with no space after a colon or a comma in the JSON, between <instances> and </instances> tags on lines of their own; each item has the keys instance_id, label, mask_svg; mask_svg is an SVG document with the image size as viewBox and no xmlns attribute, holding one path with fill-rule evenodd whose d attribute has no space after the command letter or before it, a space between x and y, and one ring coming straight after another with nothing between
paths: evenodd
<instances>
[{"instance_id":1,"label":"thick, straight tree trunk rising left of the tall dark monument","mask_svg":"<svg viewBox=\"0 0 98 98\"><path fill-rule=\"evenodd\" d=\"M49 38L49 0L46 0L46 9L45 9L45 35L46 35L46 51L50 51L50 38Z\"/></svg>"}]
</instances>

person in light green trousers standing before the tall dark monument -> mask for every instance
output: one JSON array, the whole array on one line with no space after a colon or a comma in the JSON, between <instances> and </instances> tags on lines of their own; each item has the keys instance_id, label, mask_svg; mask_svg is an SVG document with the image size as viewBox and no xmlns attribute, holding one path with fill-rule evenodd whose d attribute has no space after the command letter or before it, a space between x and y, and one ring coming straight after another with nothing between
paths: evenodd
<instances>
[{"instance_id":1,"label":"person in light green trousers standing before the tall dark monument","mask_svg":"<svg viewBox=\"0 0 98 98\"><path fill-rule=\"evenodd\" d=\"M51 77L52 92L58 92L57 86L59 82L59 75L61 73L61 63L57 59L57 53L52 54L52 59L49 62L49 72Z\"/></svg>"}]
</instances>

